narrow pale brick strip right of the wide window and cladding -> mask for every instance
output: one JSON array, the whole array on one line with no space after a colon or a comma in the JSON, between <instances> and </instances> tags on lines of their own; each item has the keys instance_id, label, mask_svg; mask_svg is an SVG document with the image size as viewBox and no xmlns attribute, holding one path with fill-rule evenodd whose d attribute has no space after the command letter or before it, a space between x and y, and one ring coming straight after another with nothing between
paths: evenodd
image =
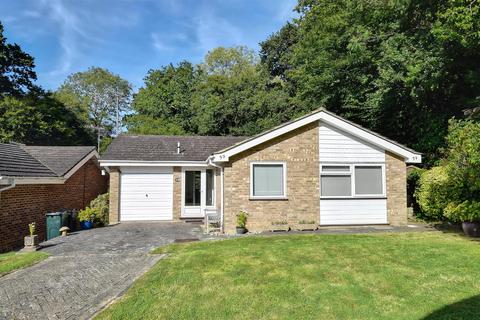
<instances>
[{"instance_id":1,"label":"narrow pale brick strip right of the wide window and cladding","mask_svg":"<svg viewBox=\"0 0 480 320\"><path fill-rule=\"evenodd\" d=\"M407 224L407 168L403 158L385 152L387 216L392 226Z\"/></svg>"}]
</instances>

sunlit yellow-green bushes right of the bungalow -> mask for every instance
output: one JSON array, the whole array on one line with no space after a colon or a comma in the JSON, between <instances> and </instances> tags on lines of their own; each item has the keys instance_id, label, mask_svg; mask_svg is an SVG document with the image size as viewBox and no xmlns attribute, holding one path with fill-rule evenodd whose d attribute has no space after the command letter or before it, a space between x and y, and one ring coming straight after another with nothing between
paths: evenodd
<instances>
[{"instance_id":1,"label":"sunlit yellow-green bushes right of the bungalow","mask_svg":"<svg viewBox=\"0 0 480 320\"><path fill-rule=\"evenodd\" d=\"M422 174L417 199L426 215L480 220L480 122L451 120L439 167Z\"/></svg>"}]
</instances>

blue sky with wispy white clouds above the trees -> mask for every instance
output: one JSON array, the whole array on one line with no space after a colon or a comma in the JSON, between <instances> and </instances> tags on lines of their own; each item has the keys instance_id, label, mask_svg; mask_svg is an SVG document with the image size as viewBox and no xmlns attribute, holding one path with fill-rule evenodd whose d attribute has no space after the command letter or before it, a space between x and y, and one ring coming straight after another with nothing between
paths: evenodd
<instances>
[{"instance_id":1,"label":"blue sky with wispy white clouds above the trees","mask_svg":"<svg viewBox=\"0 0 480 320\"><path fill-rule=\"evenodd\" d=\"M35 58L37 84L55 90L91 66L129 80L200 62L218 46L258 43L295 17L296 0L0 0L8 43Z\"/></svg>"}]
</instances>

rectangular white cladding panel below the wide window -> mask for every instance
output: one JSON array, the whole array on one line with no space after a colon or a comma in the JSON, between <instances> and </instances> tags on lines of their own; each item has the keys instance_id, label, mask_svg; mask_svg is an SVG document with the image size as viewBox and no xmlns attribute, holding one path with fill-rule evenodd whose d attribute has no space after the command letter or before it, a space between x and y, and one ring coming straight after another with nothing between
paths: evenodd
<instances>
[{"instance_id":1,"label":"rectangular white cladding panel below the wide window","mask_svg":"<svg viewBox=\"0 0 480 320\"><path fill-rule=\"evenodd\" d=\"M386 199L320 199L320 225L386 223Z\"/></svg>"}]
</instances>

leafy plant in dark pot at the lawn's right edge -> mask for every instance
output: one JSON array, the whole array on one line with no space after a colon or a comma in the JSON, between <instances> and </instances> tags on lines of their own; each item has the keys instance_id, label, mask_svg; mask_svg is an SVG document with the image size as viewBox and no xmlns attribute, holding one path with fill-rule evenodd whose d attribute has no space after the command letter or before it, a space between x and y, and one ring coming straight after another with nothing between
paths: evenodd
<instances>
[{"instance_id":1,"label":"leafy plant in dark pot at the lawn's right edge","mask_svg":"<svg viewBox=\"0 0 480 320\"><path fill-rule=\"evenodd\" d=\"M466 200L460 204L449 203L444 214L452 221L461 222L465 235L480 237L480 202Z\"/></svg>"}]
</instances>

